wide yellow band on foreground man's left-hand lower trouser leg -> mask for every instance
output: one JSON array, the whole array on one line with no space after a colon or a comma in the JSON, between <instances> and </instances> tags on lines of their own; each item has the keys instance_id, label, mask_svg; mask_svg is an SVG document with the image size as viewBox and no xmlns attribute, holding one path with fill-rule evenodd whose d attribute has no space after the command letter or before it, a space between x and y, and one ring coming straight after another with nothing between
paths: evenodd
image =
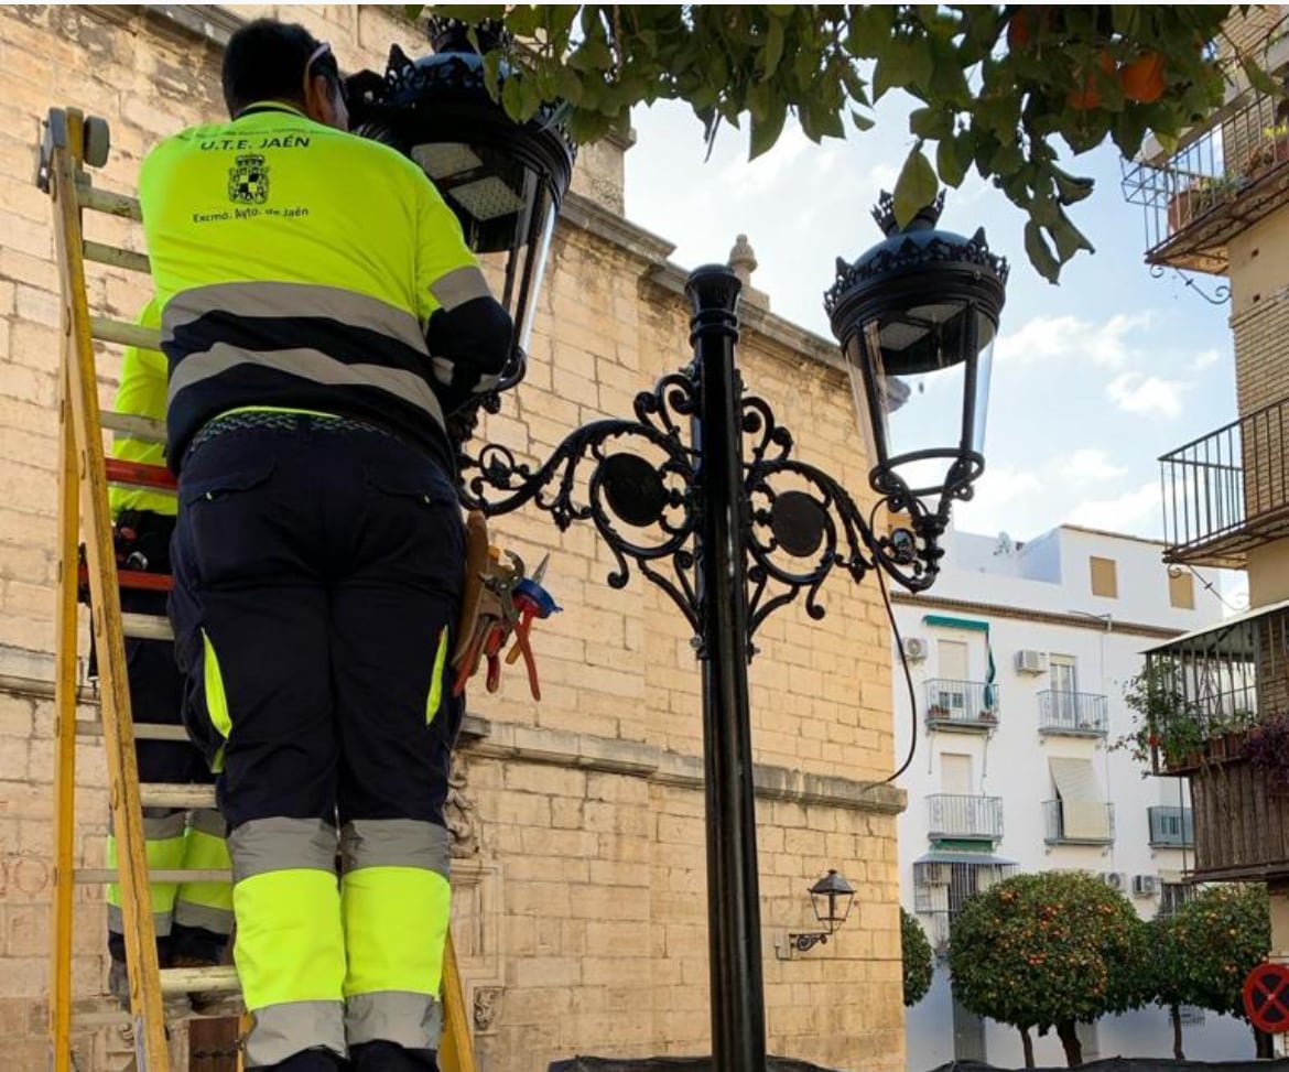
<instances>
[{"instance_id":1,"label":"wide yellow band on foreground man's left-hand lower trouser leg","mask_svg":"<svg viewBox=\"0 0 1289 1072\"><path fill-rule=\"evenodd\" d=\"M233 886L233 907L237 977L247 1009L342 1000L344 932L334 874L263 871ZM402 941L407 938L405 933Z\"/></svg>"}]
</instances>

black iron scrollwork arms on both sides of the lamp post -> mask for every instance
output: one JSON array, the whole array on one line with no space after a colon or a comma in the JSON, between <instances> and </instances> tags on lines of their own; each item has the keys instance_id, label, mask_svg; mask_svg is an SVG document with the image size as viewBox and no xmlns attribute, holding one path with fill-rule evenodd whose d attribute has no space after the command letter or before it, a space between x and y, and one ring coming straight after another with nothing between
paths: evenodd
<instances>
[{"instance_id":1,"label":"black iron scrollwork arms on both sides of the lamp post","mask_svg":"<svg viewBox=\"0 0 1289 1072\"><path fill-rule=\"evenodd\" d=\"M635 396L635 420L606 419L570 433L540 465L487 443L464 456L461 501L489 517L532 504L561 530L589 521L612 551L611 588L624 588L630 562L684 613L704 648L695 533L701 497L701 452L683 425L697 412L693 363ZM741 389L741 383L740 383ZM749 585L749 635L777 608L806 594L811 618L826 613L820 589L834 568L860 581L882 570L911 591L927 589L942 555L945 519L919 500L901 503L907 524L877 533L871 517L834 478L791 457L791 433L770 405L742 394L742 512Z\"/></svg>"}]
</instances>

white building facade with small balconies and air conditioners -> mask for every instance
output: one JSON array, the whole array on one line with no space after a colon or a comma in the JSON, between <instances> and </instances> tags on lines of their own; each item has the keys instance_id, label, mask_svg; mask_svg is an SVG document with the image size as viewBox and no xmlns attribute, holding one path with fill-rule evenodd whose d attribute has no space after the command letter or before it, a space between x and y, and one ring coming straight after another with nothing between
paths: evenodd
<instances>
[{"instance_id":1,"label":"white building facade with small balconies and air conditioners","mask_svg":"<svg viewBox=\"0 0 1289 1072\"><path fill-rule=\"evenodd\" d=\"M1186 780L1142 777L1125 750L1125 684L1141 652L1226 609L1219 575L1169 570L1163 545L1062 526L1016 544L950 532L931 593L896 595L916 711L895 653L897 755L916 725L901 783L901 895L944 951L955 912L1009 875L1081 870L1121 889L1143 917L1185 898L1194 840ZM1188 1013L1190 1059L1253 1057L1248 1027ZM1084 1059L1172 1057L1168 1014L1148 1008L1081 1028ZM944 957L927 997L907 1010L909 1068L955 1058L1023 1064L1014 1028L951 997ZM1063 1064L1054 1035L1035 1037L1040 1066Z\"/></svg>"}]
</instances>

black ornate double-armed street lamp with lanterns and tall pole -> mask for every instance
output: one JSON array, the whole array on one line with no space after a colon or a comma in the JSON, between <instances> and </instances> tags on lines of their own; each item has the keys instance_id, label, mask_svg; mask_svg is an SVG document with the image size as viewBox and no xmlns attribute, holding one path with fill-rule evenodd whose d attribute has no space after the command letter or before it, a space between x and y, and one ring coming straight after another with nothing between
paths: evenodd
<instances>
[{"instance_id":1,"label":"black ornate double-armed street lamp with lanterns and tall pole","mask_svg":"<svg viewBox=\"0 0 1289 1072\"><path fill-rule=\"evenodd\" d=\"M458 35L455 40L460 48L464 39ZM518 165L534 177L523 189L544 191L557 206L567 188L571 152L556 153L549 139L541 144L550 152L534 147L535 137L550 134L553 108L541 121L547 126L518 126L490 99L491 112L485 117L483 98L474 94L470 124L443 119L446 133L432 134L440 129L434 126L440 110L458 106L459 81L483 85L477 55L463 58L456 52L449 57L410 63L396 50L385 77L367 79L362 99L374 111L365 115L366 133L420 160L447 191L456 187L434 174L449 168L440 166L447 155L425 146L481 144L490 152L474 153L480 168L472 165L469 182L496 177L518 191L505 179L517 174L512 165ZM440 70L450 72L440 75ZM458 213L470 211L468 198L456 200ZM901 231L884 196L878 216L887 240L855 264L838 262L837 282L826 298L851 367L861 424L869 423L870 482L879 496L870 518L886 505L906 517L906 526L875 532L835 479L791 456L791 434L776 423L768 403L744 390L735 359L741 283L724 265L699 268L690 276L693 359L638 394L632 419L577 428L538 465L499 445L485 445L473 455L461 448L467 506L500 515L532 504L561 530L589 521L616 560L608 584L625 586L629 560L634 562L693 630L703 671L715 1072L766 1068L748 693L755 633L775 609L802 593L809 616L822 617L819 591L834 568L856 581L880 570L910 590L929 588L950 505L971 496L972 482L984 469L980 437L989 347L1003 307L1007 264L989 251L982 231L969 240L933 231L938 211L937 201ZM527 220L517 232L527 236L527 267L514 276L528 281L526 289L516 290L521 300L516 322L526 323L540 278L540 259L534 256L539 250L544 256L545 246L535 241L541 232L535 218L518 209L514 215ZM487 232L480 227L473 233ZM512 240L508 249L514 255L518 247ZM913 397L907 381L929 387L928 397L942 401L945 392L933 380L954 376L959 394L953 399L956 411L946 443L898 446L889 415L901 399ZM914 419L919 408L918 402L906 405L901 423ZM928 463L941 466L931 478L923 472ZM835 911L835 899L829 911Z\"/></svg>"}]
</instances>

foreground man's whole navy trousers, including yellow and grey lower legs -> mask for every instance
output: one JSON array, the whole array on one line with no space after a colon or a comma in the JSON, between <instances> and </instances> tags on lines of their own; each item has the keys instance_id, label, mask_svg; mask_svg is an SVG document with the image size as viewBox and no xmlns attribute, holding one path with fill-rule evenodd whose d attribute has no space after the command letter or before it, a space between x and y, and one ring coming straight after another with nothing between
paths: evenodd
<instances>
[{"instance_id":1,"label":"foreground man's whole navy trousers, including yellow and grey lower legs","mask_svg":"<svg viewBox=\"0 0 1289 1072\"><path fill-rule=\"evenodd\" d=\"M189 732L222 768L247 1064L433 1068L455 490L376 429L229 415L184 459L171 557Z\"/></svg>"}]
</instances>

